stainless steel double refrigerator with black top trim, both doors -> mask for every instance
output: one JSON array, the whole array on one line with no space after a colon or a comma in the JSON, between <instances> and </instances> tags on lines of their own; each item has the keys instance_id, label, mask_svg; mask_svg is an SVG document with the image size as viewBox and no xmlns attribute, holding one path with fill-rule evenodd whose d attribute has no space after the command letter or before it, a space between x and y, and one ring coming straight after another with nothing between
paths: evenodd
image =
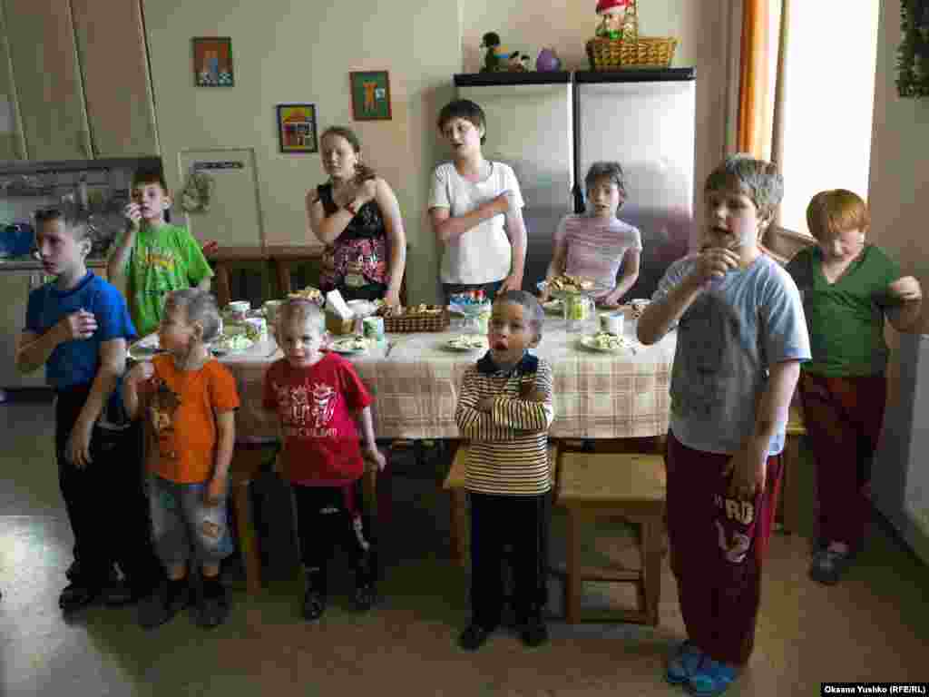
<instances>
[{"instance_id":1,"label":"stainless steel double refrigerator with black top trim, both doors","mask_svg":"<svg viewBox=\"0 0 929 697\"><path fill-rule=\"evenodd\" d=\"M587 168L615 160L628 194L619 217L643 244L626 297L650 297L694 231L695 70L491 72L454 83L485 112L485 157L511 164L519 180L529 238L523 287L544 278L558 220L583 211Z\"/></svg>"}]
</instances>

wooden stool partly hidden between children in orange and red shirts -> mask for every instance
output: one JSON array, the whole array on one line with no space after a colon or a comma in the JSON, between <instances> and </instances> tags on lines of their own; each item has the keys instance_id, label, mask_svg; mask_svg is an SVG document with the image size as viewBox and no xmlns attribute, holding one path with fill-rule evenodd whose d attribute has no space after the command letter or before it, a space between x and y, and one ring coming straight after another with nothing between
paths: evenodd
<instances>
[{"instance_id":1,"label":"wooden stool partly hidden between children in orange and red shirts","mask_svg":"<svg viewBox=\"0 0 929 697\"><path fill-rule=\"evenodd\" d=\"M252 594L261 590L261 548L255 534L249 485L268 463L276 447L237 444L229 464L229 498L235 511L236 533L242 549L245 587Z\"/></svg>"}]
</instances>

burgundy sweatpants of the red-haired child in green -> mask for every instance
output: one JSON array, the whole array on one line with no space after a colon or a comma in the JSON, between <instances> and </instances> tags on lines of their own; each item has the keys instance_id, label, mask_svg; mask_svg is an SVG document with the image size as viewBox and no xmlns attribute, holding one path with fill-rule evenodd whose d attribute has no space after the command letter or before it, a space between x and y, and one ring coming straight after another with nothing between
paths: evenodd
<instances>
[{"instance_id":1,"label":"burgundy sweatpants of the red-haired child in green","mask_svg":"<svg viewBox=\"0 0 929 697\"><path fill-rule=\"evenodd\" d=\"M817 534L858 549L870 519L864 493L887 398L883 373L863 377L800 374L806 435L816 462Z\"/></svg>"}]
</instances>

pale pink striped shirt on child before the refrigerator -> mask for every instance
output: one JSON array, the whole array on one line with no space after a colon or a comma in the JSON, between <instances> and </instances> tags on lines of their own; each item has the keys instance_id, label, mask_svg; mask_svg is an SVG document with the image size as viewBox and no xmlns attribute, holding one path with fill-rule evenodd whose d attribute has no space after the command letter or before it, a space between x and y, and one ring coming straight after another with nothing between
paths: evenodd
<instances>
[{"instance_id":1,"label":"pale pink striped shirt on child before the refrigerator","mask_svg":"<svg viewBox=\"0 0 929 697\"><path fill-rule=\"evenodd\" d=\"M562 240L567 247L565 273L592 279L597 296L616 287L616 274L626 250L642 249L638 229L615 216L605 220L569 214L558 223L556 247Z\"/></svg>"}]
</instances>

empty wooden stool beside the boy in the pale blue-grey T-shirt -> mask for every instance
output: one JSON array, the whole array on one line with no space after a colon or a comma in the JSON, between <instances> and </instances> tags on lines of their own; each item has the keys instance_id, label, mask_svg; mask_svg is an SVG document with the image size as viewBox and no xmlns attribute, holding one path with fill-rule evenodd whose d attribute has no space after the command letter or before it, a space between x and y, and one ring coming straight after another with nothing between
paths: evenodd
<instances>
[{"instance_id":1,"label":"empty wooden stool beside the boy in the pale blue-grey T-shirt","mask_svg":"<svg viewBox=\"0 0 929 697\"><path fill-rule=\"evenodd\" d=\"M558 468L558 505L568 514L565 614L581 621L583 581L631 583L637 608L590 618L658 625L661 598L661 534L665 510L664 459L655 454L566 453ZM581 524L597 516L622 516L641 526L641 569L582 568ZM586 618L584 618L586 619Z\"/></svg>"}]
</instances>

